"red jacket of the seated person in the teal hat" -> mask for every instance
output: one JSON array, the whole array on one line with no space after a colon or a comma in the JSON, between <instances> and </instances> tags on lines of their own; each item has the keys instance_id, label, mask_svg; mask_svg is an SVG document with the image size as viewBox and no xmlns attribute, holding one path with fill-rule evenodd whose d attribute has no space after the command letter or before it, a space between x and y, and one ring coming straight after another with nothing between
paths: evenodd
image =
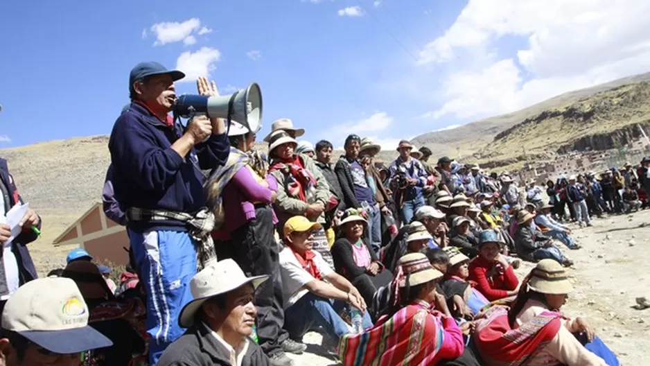
<instances>
[{"instance_id":1,"label":"red jacket of the seated person in the teal hat","mask_svg":"<svg viewBox=\"0 0 650 366\"><path fill-rule=\"evenodd\" d=\"M491 276L488 276L488 272L491 272ZM471 261L468 279L475 281L476 289L490 301L507 297L508 291L519 285L512 265L504 269L500 263L489 262L482 256L477 256Z\"/></svg>"}]
</instances>

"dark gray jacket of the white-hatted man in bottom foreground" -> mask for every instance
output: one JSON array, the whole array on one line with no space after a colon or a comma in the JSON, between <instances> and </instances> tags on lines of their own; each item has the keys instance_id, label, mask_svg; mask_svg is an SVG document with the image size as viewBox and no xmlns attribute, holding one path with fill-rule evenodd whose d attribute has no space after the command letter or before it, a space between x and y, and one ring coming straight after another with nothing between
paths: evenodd
<instances>
[{"instance_id":1,"label":"dark gray jacket of the white-hatted man in bottom foreground","mask_svg":"<svg viewBox=\"0 0 650 366\"><path fill-rule=\"evenodd\" d=\"M230 363L229 351L211 335L211 329L201 322L189 328L173 342L157 363L158 366L236 366ZM252 340L244 355L242 366L270 366L269 358Z\"/></svg>"}]
</instances>

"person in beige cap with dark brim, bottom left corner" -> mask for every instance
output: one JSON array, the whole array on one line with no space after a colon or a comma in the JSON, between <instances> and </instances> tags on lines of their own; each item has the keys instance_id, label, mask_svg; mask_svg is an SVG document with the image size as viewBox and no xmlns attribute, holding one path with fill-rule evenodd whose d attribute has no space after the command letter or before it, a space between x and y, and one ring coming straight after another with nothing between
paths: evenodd
<instances>
[{"instance_id":1,"label":"person in beige cap with dark brim, bottom left corner","mask_svg":"<svg viewBox=\"0 0 650 366\"><path fill-rule=\"evenodd\" d=\"M71 279L35 279L2 312L0 365L73 366L112 342L88 325L88 306Z\"/></svg>"}]
</instances>

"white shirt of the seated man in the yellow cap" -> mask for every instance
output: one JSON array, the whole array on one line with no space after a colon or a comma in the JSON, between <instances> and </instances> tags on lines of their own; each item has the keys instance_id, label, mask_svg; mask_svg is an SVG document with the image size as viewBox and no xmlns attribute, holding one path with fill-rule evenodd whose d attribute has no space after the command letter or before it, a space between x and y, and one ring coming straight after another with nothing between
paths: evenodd
<instances>
[{"instance_id":1,"label":"white shirt of the seated man in the yellow cap","mask_svg":"<svg viewBox=\"0 0 650 366\"><path fill-rule=\"evenodd\" d=\"M314 263L323 277L334 272L319 252L314 252L314 254ZM308 293L305 285L316 279L302 268L289 247L284 247L280 252L279 260L280 275L282 276L282 295L285 298L284 308L288 308Z\"/></svg>"}]
</instances>

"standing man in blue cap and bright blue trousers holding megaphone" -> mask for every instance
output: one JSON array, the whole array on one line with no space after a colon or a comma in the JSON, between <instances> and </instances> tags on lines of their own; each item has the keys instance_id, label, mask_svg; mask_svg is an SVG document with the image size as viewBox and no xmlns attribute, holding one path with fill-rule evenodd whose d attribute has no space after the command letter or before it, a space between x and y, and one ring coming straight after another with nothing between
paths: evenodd
<instances>
[{"instance_id":1,"label":"standing man in blue cap and bright blue trousers holding megaphone","mask_svg":"<svg viewBox=\"0 0 650 366\"><path fill-rule=\"evenodd\" d=\"M146 287L150 363L182 335L175 322L191 300L188 282L200 264L214 261L209 232L214 218L204 209L202 170L223 165L229 140L220 119L195 117L186 128L168 114L174 82L185 75L157 62L130 73L131 105L118 117L108 147L115 197L128 218L135 263ZM203 95L218 95L214 83L197 80Z\"/></svg>"}]
</instances>

